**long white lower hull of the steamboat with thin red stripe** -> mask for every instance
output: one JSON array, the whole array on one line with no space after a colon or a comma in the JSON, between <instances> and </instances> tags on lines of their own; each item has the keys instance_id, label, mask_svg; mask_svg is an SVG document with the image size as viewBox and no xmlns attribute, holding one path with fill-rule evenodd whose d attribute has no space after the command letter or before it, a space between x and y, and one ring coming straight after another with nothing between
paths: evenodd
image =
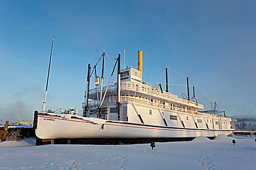
<instances>
[{"instance_id":1,"label":"long white lower hull of the steamboat with thin red stripe","mask_svg":"<svg viewBox=\"0 0 256 170\"><path fill-rule=\"evenodd\" d=\"M36 135L48 138L192 138L230 135L232 129L192 129L97 118L70 118L38 115Z\"/></svg>"}]
</instances>

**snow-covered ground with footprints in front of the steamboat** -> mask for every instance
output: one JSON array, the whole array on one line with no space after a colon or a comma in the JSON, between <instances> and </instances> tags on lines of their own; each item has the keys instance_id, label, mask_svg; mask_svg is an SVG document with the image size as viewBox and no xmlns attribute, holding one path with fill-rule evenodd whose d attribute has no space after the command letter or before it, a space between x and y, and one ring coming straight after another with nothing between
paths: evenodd
<instances>
[{"instance_id":1,"label":"snow-covered ground with footprints in front of the steamboat","mask_svg":"<svg viewBox=\"0 0 256 170\"><path fill-rule=\"evenodd\" d=\"M236 140L233 146L232 139ZM253 137L199 136L190 142L136 145L45 145L35 139L0 143L0 170L255 170Z\"/></svg>"}]
</instances>

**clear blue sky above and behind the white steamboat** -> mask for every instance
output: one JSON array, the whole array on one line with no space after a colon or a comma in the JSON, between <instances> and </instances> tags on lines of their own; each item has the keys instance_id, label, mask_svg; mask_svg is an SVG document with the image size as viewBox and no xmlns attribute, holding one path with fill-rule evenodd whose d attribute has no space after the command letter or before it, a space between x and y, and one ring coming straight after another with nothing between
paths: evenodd
<instances>
[{"instance_id":1,"label":"clear blue sky above and behind the white steamboat","mask_svg":"<svg viewBox=\"0 0 256 170\"><path fill-rule=\"evenodd\" d=\"M172 68L229 116L256 115L255 7L254 0L1 0L0 119L31 121L41 110L53 35L47 109L82 110L88 63L103 51L121 51L122 58L125 50L126 66L136 67L139 46L155 79ZM170 83L185 84L169 74ZM169 88L186 93L185 87Z\"/></svg>"}]
</instances>

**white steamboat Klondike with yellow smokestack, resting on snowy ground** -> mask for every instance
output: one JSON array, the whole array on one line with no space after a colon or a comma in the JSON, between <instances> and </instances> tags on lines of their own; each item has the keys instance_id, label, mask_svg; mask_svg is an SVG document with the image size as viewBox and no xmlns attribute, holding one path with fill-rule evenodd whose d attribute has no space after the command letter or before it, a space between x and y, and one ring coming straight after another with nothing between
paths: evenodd
<instances>
[{"instance_id":1,"label":"white steamboat Klondike with yellow smokestack, resting on snowy ground","mask_svg":"<svg viewBox=\"0 0 256 170\"><path fill-rule=\"evenodd\" d=\"M115 61L109 79L103 77L106 57ZM102 61L100 77L96 71L99 61ZM197 102L195 86L189 85L188 78L187 95L182 94L183 98L168 91L168 68L165 68L165 91L161 84L143 81L142 51L138 51L138 69L120 69L120 53L114 58L103 52L99 61L93 69L88 65L82 116L74 109L59 114L45 111L45 97L43 110L36 117L39 138L143 143L191 140L197 136L214 138L219 134L229 136L234 131L231 118L217 111L216 102L212 110L204 110L204 105ZM115 70L117 82L113 82ZM90 89L90 82L95 88ZM189 87L193 87L193 97L190 97ZM220 113L224 113L223 116Z\"/></svg>"}]
</instances>

